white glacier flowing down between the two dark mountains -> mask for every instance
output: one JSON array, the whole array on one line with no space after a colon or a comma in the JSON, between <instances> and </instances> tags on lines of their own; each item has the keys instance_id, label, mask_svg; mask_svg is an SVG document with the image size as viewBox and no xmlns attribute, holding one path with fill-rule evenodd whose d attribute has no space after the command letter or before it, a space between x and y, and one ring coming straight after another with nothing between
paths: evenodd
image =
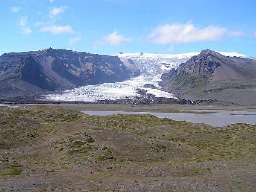
<instances>
[{"instance_id":1,"label":"white glacier flowing down between the two dark mountains","mask_svg":"<svg viewBox=\"0 0 256 192\"><path fill-rule=\"evenodd\" d=\"M226 56L245 57L243 54L236 52L220 52ZM97 102L106 99L143 99L145 95L139 93L140 90L145 90L148 94L153 94L156 97L166 97L177 99L172 93L160 90L159 82L163 73L167 73L172 68L177 68L181 63L186 62L199 52L189 52L183 54L154 54L154 53L118 53L120 60L126 65L135 67L141 71L140 76L133 77L126 81L116 83L103 83L95 85L86 85L70 90L62 91L61 93L52 93L44 95L44 99L52 101L81 101L81 102ZM132 64L129 63L132 61ZM155 87L145 87L150 84Z\"/></svg>"}]
</instances>

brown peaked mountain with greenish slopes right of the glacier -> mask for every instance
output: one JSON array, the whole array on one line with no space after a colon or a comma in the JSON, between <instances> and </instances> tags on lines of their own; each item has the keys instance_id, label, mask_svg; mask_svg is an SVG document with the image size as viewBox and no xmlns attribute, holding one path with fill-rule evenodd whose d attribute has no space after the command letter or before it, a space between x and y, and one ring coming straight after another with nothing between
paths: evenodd
<instances>
[{"instance_id":1,"label":"brown peaked mountain with greenish slopes right of the glacier","mask_svg":"<svg viewBox=\"0 0 256 192\"><path fill-rule=\"evenodd\" d=\"M256 103L256 60L203 50L161 76L163 90L184 99Z\"/></svg>"}]
</instances>

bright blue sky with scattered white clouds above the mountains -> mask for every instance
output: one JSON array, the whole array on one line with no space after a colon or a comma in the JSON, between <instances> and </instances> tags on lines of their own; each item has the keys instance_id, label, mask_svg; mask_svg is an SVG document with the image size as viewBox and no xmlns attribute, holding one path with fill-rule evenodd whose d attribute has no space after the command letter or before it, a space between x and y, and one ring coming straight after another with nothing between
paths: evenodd
<instances>
[{"instance_id":1,"label":"bright blue sky with scattered white clouds above the mountains","mask_svg":"<svg viewBox=\"0 0 256 192\"><path fill-rule=\"evenodd\" d=\"M203 49L256 57L255 0L0 0L0 55Z\"/></svg>"}]
</instances>

